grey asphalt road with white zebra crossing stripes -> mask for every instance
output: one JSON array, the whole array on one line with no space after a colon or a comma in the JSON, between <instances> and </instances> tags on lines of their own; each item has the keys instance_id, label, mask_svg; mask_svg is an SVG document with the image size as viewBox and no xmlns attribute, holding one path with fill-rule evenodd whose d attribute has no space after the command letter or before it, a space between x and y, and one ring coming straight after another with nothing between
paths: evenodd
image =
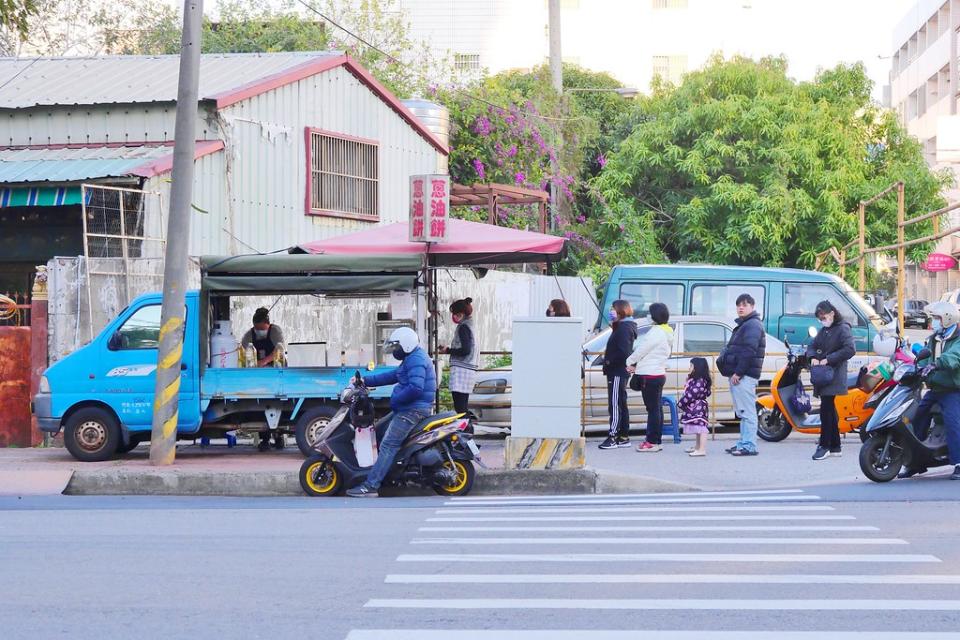
<instances>
[{"instance_id":1,"label":"grey asphalt road with white zebra crossing stripes","mask_svg":"<svg viewBox=\"0 0 960 640\"><path fill-rule=\"evenodd\" d=\"M932 484L0 499L2 636L957 638L960 486Z\"/></svg>"}]
</instances>

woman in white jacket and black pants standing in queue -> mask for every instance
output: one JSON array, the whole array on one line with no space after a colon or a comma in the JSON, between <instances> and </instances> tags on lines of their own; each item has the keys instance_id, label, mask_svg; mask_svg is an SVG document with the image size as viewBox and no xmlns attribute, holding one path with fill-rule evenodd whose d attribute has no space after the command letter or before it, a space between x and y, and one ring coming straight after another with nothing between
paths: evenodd
<instances>
[{"instance_id":1,"label":"woman in white jacket and black pants standing in queue","mask_svg":"<svg viewBox=\"0 0 960 640\"><path fill-rule=\"evenodd\" d=\"M663 384L667 381L667 361L673 352L673 329L667 322L670 310L662 302L650 305L653 326L638 341L627 358L627 371L642 384L643 406L647 409L647 437L637 451L660 451L663 440Z\"/></svg>"}]
</instances>

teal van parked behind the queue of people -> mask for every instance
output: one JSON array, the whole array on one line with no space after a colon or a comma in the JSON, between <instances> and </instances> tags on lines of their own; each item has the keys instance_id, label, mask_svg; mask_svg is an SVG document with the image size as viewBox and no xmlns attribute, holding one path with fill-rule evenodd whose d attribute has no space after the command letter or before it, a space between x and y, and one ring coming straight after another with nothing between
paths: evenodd
<instances>
[{"instance_id":1,"label":"teal van parked behind the queue of people","mask_svg":"<svg viewBox=\"0 0 960 640\"><path fill-rule=\"evenodd\" d=\"M724 267L712 265L620 265L610 273L597 329L608 324L614 300L629 300L634 315L647 314L653 302L663 302L672 315L734 317L736 299L749 293L757 301L767 333L792 344L807 340L807 327L818 327L813 310L830 300L853 328L858 351L872 349L883 328L876 311L850 285L828 273L802 269Z\"/></svg>"}]
</instances>

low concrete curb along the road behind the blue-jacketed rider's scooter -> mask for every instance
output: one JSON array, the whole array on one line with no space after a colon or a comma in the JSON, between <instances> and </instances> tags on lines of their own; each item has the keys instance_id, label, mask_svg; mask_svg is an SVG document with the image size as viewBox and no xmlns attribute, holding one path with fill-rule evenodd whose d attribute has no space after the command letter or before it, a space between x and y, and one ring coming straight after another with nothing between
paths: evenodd
<instances>
[{"instance_id":1,"label":"low concrete curb along the road behind the blue-jacketed rider's scooter","mask_svg":"<svg viewBox=\"0 0 960 640\"><path fill-rule=\"evenodd\" d=\"M699 491L696 487L656 478L609 473L595 469L482 470L471 495L560 495L617 493L674 493ZM73 473L67 495L173 495L173 496L302 496L297 473L249 473L184 469L83 469ZM424 495L418 487L402 495ZM432 495L427 492L426 495Z\"/></svg>"}]
</instances>

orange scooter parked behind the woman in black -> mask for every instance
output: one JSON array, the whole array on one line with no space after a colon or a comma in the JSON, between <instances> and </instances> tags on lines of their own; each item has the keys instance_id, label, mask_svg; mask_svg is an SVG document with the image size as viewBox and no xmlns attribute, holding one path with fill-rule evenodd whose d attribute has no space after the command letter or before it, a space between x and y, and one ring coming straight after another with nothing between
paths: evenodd
<instances>
[{"instance_id":1,"label":"orange scooter parked behind the woman in black","mask_svg":"<svg viewBox=\"0 0 960 640\"><path fill-rule=\"evenodd\" d=\"M810 337L816 335L816 329L810 327ZM905 348L905 342L899 335L885 336L874 343L874 350L894 362L913 362L913 356ZM890 342L895 340L895 342ZM757 435L767 442L779 442L790 435L791 431L800 433L820 433L820 410L801 409L793 398L797 394L800 375L809 366L803 346L791 346L787 343L787 364L777 372L770 384L770 394L757 400ZM892 367L890 367L892 373ZM837 396L835 404L840 433L860 430L861 439L866 439L863 427L873 415L879 398L892 389L894 383L890 374L884 379L870 369L860 369L847 376L847 395ZM809 405L809 402L806 402Z\"/></svg>"}]
</instances>

